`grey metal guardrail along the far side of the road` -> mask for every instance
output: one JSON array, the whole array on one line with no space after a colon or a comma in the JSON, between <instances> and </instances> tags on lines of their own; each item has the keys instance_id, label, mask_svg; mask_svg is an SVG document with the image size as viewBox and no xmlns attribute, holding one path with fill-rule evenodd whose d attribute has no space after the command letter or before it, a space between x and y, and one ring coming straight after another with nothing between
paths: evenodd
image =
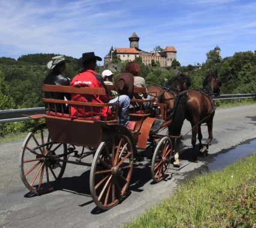
<instances>
[{"instance_id":1,"label":"grey metal guardrail along the far side of the road","mask_svg":"<svg viewBox=\"0 0 256 228\"><path fill-rule=\"evenodd\" d=\"M245 99L256 98L256 93L245 94L225 94L221 96L215 96L214 101L232 100L232 99ZM22 108L19 110L0 110L0 123L31 120L31 118L25 115L45 114L45 108Z\"/></svg>"}]
</instances>

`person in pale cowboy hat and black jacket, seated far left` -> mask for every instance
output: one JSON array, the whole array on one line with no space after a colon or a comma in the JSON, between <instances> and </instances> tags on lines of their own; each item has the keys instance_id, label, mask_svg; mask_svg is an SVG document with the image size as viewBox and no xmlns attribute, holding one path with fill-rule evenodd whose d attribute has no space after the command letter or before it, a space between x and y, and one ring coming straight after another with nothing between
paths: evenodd
<instances>
[{"instance_id":1,"label":"person in pale cowboy hat and black jacket, seated far left","mask_svg":"<svg viewBox=\"0 0 256 228\"><path fill-rule=\"evenodd\" d=\"M64 56L52 57L47 68L50 69L50 73L46 76L43 84L56 85L56 86L70 86L70 79L62 75L66 70L66 63L70 63L70 60L65 59ZM44 92L44 98L53 98L58 100L70 101L70 93L51 93ZM50 110L55 111L54 105L51 104ZM61 112L61 105L57 104L57 112Z\"/></svg>"}]
</instances>

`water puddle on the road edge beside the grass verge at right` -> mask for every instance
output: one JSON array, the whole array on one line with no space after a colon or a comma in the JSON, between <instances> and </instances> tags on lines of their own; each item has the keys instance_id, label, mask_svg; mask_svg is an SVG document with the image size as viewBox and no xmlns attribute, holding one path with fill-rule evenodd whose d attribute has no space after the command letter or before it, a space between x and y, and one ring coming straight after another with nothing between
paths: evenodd
<instances>
[{"instance_id":1,"label":"water puddle on the road edge beside the grass verge at right","mask_svg":"<svg viewBox=\"0 0 256 228\"><path fill-rule=\"evenodd\" d=\"M216 171L236 162L243 157L249 156L256 151L256 139L248 141L244 144L237 145L235 148L220 152L217 156L213 156L209 163L204 166L205 171ZM208 161L207 161L208 162ZM208 170L207 170L208 169Z\"/></svg>"}]
</instances>

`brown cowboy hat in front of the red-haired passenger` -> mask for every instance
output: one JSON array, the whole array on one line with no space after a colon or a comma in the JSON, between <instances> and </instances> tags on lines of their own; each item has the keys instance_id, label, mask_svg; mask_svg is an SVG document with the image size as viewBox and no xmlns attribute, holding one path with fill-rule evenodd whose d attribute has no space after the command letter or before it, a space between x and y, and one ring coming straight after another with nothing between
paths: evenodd
<instances>
[{"instance_id":1,"label":"brown cowboy hat in front of the red-haired passenger","mask_svg":"<svg viewBox=\"0 0 256 228\"><path fill-rule=\"evenodd\" d=\"M120 95L131 96L133 92L134 77L130 73L123 73L115 78L115 91Z\"/></svg>"}]
</instances>

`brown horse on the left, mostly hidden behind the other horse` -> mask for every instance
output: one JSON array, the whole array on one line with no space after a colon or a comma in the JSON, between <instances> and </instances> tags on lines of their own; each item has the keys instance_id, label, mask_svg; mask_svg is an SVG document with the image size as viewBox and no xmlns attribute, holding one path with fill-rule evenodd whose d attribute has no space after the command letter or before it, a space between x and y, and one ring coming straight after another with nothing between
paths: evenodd
<instances>
[{"instance_id":1,"label":"brown horse on the left, mostly hidden behind the other horse","mask_svg":"<svg viewBox=\"0 0 256 228\"><path fill-rule=\"evenodd\" d=\"M190 86L190 78L187 75L178 74L178 76L172 77L171 80L165 83L162 87L149 86L147 92L151 93L151 98L156 96L157 103L166 104L167 117L171 118L175 96L180 92L189 89Z\"/></svg>"}]
</instances>

